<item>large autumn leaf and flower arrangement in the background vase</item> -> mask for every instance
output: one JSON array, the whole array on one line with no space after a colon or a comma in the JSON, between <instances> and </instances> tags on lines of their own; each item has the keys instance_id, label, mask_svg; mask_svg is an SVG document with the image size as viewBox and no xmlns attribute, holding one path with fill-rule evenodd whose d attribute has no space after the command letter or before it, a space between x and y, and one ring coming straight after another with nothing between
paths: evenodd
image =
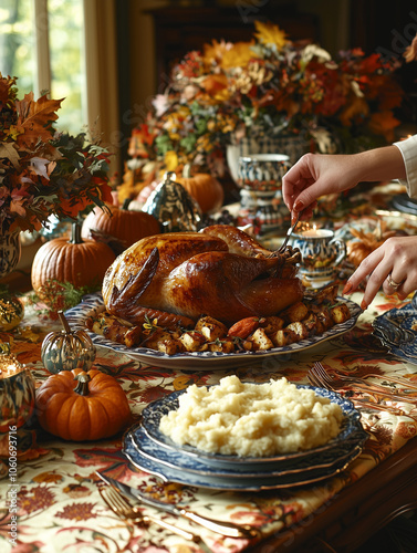
<instances>
[{"instance_id":1,"label":"large autumn leaf and flower arrangement in the background vase","mask_svg":"<svg viewBox=\"0 0 417 553\"><path fill-rule=\"evenodd\" d=\"M194 163L221 175L226 145L248 135L303 134L319 150L332 137L343 152L392 140L404 97L397 59L355 49L333 60L316 44L288 40L275 24L254 24L251 41L213 41L174 67L133 131L134 167L158 161L178 171Z\"/></svg>"}]
</instances>

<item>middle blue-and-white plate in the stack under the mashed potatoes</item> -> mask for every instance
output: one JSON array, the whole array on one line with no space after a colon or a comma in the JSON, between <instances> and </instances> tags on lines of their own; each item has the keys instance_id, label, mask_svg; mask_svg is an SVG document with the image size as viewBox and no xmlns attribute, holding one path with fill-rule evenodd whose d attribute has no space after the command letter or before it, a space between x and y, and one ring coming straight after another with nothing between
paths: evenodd
<instances>
[{"instance_id":1,"label":"middle blue-and-white plate in the stack under the mashed potatoes","mask_svg":"<svg viewBox=\"0 0 417 553\"><path fill-rule=\"evenodd\" d=\"M302 458L295 463L277 463L273 467L262 466L262 470L259 470L257 467L257 470L249 468L242 471L240 470L240 465L237 470L232 466L223 468L221 465L206 462L204 458L185 455L181 450L167 449L149 438L140 424L132 428L128 434L138 452L154 463L175 470L184 470L201 478L216 477L248 480L259 480L259 478L270 480L293 477L295 474L305 478L309 472L315 474L319 471L331 471L334 467L340 467L343 462L351 459L355 451L359 452L364 441L368 438L362 426L357 425L356 430L344 442L343 448L322 451L321 453Z\"/></svg>"}]
</instances>

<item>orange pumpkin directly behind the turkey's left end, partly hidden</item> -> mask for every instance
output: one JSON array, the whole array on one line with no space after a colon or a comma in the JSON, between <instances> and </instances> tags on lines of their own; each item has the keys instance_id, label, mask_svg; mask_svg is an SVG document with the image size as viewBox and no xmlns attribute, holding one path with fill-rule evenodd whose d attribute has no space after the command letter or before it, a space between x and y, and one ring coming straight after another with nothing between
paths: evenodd
<instances>
[{"instance_id":1,"label":"orange pumpkin directly behind the turkey's left end, partly hidden","mask_svg":"<svg viewBox=\"0 0 417 553\"><path fill-rule=\"evenodd\" d=\"M119 240L124 248L129 248L142 238L159 234L159 221L144 211L128 209L129 202L129 199L125 200L122 207L108 205L111 215L103 209L95 208L84 219L82 238L88 238L91 230L98 230L103 234Z\"/></svg>"}]
</instances>

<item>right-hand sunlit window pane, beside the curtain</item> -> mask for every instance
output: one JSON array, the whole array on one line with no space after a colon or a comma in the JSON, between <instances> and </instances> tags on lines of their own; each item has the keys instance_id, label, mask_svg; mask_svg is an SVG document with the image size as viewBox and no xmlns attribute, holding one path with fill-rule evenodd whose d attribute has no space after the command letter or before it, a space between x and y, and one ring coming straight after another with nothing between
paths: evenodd
<instances>
[{"instance_id":1,"label":"right-hand sunlit window pane, beside the curtain","mask_svg":"<svg viewBox=\"0 0 417 553\"><path fill-rule=\"evenodd\" d=\"M60 129L77 134L86 125L84 18L82 0L49 0L51 96L65 98L59 114Z\"/></svg>"}]
</instances>

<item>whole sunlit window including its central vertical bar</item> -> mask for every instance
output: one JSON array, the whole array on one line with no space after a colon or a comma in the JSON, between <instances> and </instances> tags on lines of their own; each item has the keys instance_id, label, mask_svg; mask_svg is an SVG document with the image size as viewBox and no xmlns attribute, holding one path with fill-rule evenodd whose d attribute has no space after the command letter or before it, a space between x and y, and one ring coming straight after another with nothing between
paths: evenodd
<instances>
[{"instance_id":1,"label":"whole sunlit window including its central vertical bar","mask_svg":"<svg viewBox=\"0 0 417 553\"><path fill-rule=\"evenodd\" d=\"M20 96L65 98L59 127L77 134L87 121L83 0L2 0L0 72L17 76Z\"/></svg>"}]
</instances>

